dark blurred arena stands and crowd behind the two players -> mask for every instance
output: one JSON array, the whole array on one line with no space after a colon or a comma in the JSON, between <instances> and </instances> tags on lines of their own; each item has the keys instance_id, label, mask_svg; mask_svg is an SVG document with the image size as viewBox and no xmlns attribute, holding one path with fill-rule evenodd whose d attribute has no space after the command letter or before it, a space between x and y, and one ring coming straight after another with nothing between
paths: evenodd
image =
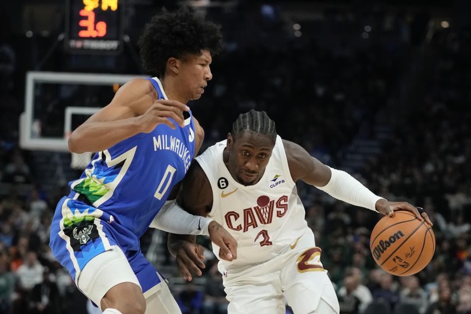
<instances>
[{"instance_id":1,"label":"dark blurred arena stands and crowd behind the two players","mask_svg":"<svg viewBox=\"0 0 471 314\"><path fill-rule=\"evenodd\" d=\"M65 3L0 3L0 313L96 313L48 247L55 205L80 171L61 149L20 145L26 73L145 75L139 31L162 6L181 5L220 23L225 36L192 106L206 130L203 149L224 139L239 113L266 110L282 137L388 200L423 207L434 222L432 262L392 277L368 248L378 214L299 185L341 313L471 313L470 1L119 0L122 15L103 17L111 46L92 45L108 47L101 53L71 43L84 28L70 10L83 2ZM65 107L104 106L116 88L48 86L31 90L32 138L63 138ZM149 230L141 244L184 314L226 313L209 250L204 275L185 283L164 233Z\"/></svg>"}]
</instances>

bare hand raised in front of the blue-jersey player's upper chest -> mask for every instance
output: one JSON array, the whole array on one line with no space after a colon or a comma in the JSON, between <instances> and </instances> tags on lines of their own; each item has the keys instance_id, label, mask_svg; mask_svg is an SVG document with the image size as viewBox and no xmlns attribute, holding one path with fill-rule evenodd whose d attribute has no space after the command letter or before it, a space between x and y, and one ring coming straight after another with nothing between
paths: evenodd
<instances>
[{"instance_id":1,"label":"bare hand raised in front of the blue-jersey player's upper chest","mask_svg":"<svg viewBox=\"0 0 471 314\"><path fill-rule=\"evenodd\" d=\"M141 132L149 133L159 124L165 124L175 130L177 126L170 120L172 118L180 127L184 127L183 111L189 111L190 108L175 100L160 99L154 101L154 104L144 112L144 114L136 117Z\"/></svg>"}]
</instances>

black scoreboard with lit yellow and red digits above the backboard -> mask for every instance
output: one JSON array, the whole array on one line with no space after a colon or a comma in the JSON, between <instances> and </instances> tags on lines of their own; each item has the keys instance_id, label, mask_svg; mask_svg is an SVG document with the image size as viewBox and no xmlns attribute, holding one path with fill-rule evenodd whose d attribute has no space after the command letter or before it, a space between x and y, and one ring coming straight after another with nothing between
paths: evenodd
<instances>
[{"instance_id":1,"label":"black scoreboard with lit yellow and red digits above the backboard","mask_svg":"<svg viewBox=\"0 0 471 314\"><path fill-rule=\"evenodd\" d=\"M113 54L123 48L124 0L68 0L65 48Z\"/></svg>"}]
</instances>

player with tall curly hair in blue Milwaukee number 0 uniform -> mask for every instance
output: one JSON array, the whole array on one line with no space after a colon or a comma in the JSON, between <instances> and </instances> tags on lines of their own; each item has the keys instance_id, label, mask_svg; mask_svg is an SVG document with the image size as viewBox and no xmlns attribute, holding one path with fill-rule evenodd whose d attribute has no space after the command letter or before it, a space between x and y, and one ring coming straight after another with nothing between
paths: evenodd
<instances>
[{"instance_id":1,"label":"player with tall curly hair in blue Milwaukee number 0 uniform","mask_svg":"<svg viewBox=\"0 0 471 314\"><path fill-rule=\"evenodd\" d=\"M143 256L139 237L151 225L205 234L236 258L219 224L175 207L175 190L201 146L203 129L185 105L212 78L219 26L181 9L163 10L139 40L155 77L132 79L69 138L75 153L98 152L57 205L50 246L78 288L105 314L181 313L165 280Z\"/></svg>"}]
</instances>

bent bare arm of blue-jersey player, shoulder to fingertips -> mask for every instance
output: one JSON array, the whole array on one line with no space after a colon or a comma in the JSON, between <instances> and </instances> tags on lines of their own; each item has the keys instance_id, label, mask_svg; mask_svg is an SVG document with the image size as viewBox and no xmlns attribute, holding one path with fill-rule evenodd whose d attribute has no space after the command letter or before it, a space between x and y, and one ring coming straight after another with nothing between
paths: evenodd
<instances>
[{"instance_id":1,"label":"bent bare arm of blue-jersey player, shoulder to fingertips","mask_svg":"<svg viewBox=\"0 0 471 314\"><path fill-rule=\"evenodd\" d=\"M152 83L135 78L124 84L111 103L92 115L69 137L69 150L74 153L103 151L140 132L153 131L157 125L181 127L183 110L189 108L177 101L156 100Z\"/></svg>"}]
</instances>

